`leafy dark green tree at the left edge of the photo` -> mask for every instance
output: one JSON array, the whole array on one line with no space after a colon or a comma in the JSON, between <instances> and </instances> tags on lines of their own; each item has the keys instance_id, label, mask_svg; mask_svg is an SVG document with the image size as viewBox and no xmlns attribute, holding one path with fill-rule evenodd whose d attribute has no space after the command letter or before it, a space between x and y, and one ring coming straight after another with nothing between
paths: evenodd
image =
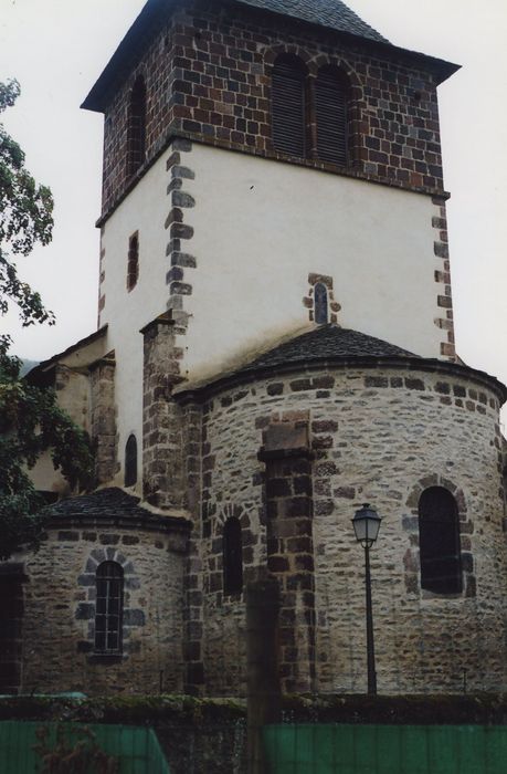
<instances>
[{"instance_id":1,"label":"leafy dark green tree at the left edge of the photo","mask_svg":"<svg viewBox=\"0 0 507 774\"><path fill-rule=\"evenodd\" d=\"M0 113L19 96L17 81L0 83ZM24 168L24 154L0 125L0 314L15 304L23 325L54 322L42 300L21 281L17 257L49 244L53 198ZM0 559L21 545L36 545L44 525L44 501L28 470L50 451L71 487L88 488L93 456L87 433L63 411L53 390L20 379L21 360L9 355L11 339L0 336Z\"/></svg>"}]
</instances>

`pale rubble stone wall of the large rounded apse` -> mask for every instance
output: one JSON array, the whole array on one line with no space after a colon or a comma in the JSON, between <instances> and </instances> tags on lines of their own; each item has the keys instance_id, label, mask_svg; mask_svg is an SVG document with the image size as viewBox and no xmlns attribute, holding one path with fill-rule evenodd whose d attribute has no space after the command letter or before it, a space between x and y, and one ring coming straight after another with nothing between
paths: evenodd
<instances>
[{"instance_id":1,"label":"pale rubble stone wall of the large rounded apse","mask_svg":"<svg viewBox=\"0 0 507 774\"><path fill-rule=\"evenodd\" d=\"M351 527L383 516L371 552L380 692L504 690L504 490L498 398L463 369L300 373L237 385L203 406L202 651L210 692L244 692L243 597L224 597L222 530L237 512L245 582L266 567L262 432L309 421L316 690L366 690L363 552ZM464 590L420 588L416 501L447 488L461 519Z\"/></svg>"}]
</instances>

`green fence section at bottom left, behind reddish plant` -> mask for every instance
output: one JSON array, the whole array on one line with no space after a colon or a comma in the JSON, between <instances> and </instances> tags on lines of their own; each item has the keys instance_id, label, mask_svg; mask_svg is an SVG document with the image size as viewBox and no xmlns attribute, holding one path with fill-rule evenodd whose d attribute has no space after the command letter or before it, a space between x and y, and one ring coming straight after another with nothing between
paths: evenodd
<instances>
[{"instance_id":1,"label":"green fence section at bottom left, behind reddish plant","mask_svg":"<svg viewBox=\"0 0 507 774\"><path fill-rule=\"evenodd\" d=\"M89 729L94 744L119 761L120 774L169 774L169 766L152 729L131 725L98 725L60 723L65 740L75 744ZM38 729L49 726L49 746L55 744L56 724L39 721L4 720L0 722L1 774L35 774L42 771L41 757L34 751L39 744ZM88 774L95 774L89 772Z\"/></svg>"}]
</instances>

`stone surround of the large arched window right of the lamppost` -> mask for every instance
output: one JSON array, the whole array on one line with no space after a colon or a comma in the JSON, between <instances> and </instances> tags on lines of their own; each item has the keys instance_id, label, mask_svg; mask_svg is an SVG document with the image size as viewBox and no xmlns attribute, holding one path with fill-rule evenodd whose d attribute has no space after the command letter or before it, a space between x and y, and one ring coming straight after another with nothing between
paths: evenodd
<instances>
[{"instance_id":1,"label":"stone surround of the large arched window right of the lamppost","mask_svg":"<svg viewBox=\"0 0 507 774\"><path fill-rule=\"evenodd\" d=\"M462 568L462 590L455 594L435 593L421 588L421 561L419 551L419 501L424 490L432 487L446 489L454 498L460 527L460 562ZM421 599L460 599L476 596L474 573L473 535L474 522L469 517L463 490L453 481L440 474L424 477L413 487L406 499L409 513L403 515L402 527L409 545L403 555L404 584L409 594Z\"/></svg>"}]
</instances>

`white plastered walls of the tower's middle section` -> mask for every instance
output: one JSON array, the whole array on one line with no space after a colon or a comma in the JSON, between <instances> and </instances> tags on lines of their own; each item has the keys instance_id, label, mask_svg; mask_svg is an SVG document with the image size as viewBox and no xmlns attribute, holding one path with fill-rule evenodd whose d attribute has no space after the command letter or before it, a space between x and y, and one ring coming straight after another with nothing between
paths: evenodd
<instances>
[{"instance_id":1,"label":"white plastered walls of the tower's middle section","mask_svg":"<svg viewBox=\"0 0 507 774\"><path fill-rule=\"evenodd\" d=\"M166 311L169 299L170 153L107 220L102 240L101 324L109 326L106 351L116 352L120 460L130 432L141 447L139 331ZM183 297L190 318L179 341L190 383L310 330L303 305L309 273L332 278L344 327L440 357L434 272L441 265L433 251L431 197L196 143L181 153L181 165L194 172L182 181L196 200L183 209L193 237L181 241L181 250L197 259L197 269L184 269L192 292ZM127 292L128 240L136 231L139 279Z\"/></svg>"}]
</instances>

